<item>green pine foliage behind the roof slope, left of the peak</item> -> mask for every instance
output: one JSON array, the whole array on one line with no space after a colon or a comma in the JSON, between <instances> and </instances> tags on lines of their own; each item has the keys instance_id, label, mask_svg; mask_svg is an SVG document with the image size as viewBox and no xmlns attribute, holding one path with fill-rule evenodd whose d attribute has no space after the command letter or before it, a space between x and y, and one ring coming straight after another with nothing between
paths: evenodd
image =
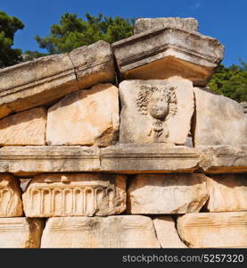
<instances>
[{"instance_id":1,"label":"green pine foliage behind the roof slope, left of the peak","mask_svg":"<svg viewBox=\"0 0 247 268\"><path fill-rule=\"evenodd\" d=\"M133 35L134 20L121 17L92 16L86 13L86 21L77 14L64 13L59 24L51 27L48 37L36 37L41 48L49 54L70 52L79 46L87 46L104 40L108 43Z\"/></svg>"}]
</instances>

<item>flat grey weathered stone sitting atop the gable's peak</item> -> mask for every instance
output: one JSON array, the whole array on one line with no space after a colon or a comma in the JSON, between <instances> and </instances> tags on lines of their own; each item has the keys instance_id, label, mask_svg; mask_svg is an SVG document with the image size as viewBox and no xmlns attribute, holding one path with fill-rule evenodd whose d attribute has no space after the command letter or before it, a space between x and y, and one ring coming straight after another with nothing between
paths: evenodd
<instances>
[{"instance_id":1,"label":"flat grey weathered stone sitting atop the gable's peak","mask_svg":"<svg viewBox=\"0 0 247 268\"><path fill-rule=\"evenodd\" d=\"M198 21L193 18L141 18L136 20L134 34L156 28L178 28L196 31Z\"/></svg>"}]
</instances>

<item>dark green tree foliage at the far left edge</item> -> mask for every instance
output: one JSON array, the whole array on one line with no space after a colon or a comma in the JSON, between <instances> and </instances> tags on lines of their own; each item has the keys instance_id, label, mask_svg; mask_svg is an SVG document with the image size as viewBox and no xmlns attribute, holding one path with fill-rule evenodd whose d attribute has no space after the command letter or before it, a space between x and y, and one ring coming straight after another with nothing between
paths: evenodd
<instances>
[{"instance_id":1,"label":"dark green tree foliage at the far left edge","mask_svg":"<svg viewBox=\"0 0 247 268\"><path fill-rule=\"evenodd\" d=\"M16 17L0 11L0 68L21 62L21 49L13 49L14 34L24 24Z\"/></svg>"}]
</instances>

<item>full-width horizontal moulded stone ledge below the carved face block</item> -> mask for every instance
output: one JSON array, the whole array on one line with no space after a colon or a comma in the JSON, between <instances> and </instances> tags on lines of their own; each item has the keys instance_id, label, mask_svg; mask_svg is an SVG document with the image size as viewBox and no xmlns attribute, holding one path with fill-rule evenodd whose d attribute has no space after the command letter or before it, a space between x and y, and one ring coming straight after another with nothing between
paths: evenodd
<instances>
[{"instance_id":1,"label":"full-width horizontal moulded stone ledge below the carved face block","mask_svg":"<svg viewBox=\"0 0 247 268\"><path fill-rule=\"evenodd\" d=\"M1 147L0 172L247 172L246 148L165 147L123 144L113 147ZM200 166L199 166L200 163Z\"/></svg>"}]
</instances>

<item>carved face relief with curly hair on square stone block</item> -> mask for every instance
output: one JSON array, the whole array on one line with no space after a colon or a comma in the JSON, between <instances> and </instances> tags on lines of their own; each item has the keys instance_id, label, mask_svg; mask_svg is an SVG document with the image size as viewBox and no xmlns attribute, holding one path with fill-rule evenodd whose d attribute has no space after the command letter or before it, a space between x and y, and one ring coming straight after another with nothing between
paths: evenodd
<instances>
[{"instance_id":1,"label":"carved face relief with curly hair on square stone block","mask_svg":"<svg viewBox=\"0 0 247 268\"><path fill-rule=\"evenodd\" d=\"M141 86L136 96L138 111L152 116L152 129L148 136L158 139L162 134L169 136L166 120L177 113L177 97L174 87Z\"/></svg>"}]
</instances>

